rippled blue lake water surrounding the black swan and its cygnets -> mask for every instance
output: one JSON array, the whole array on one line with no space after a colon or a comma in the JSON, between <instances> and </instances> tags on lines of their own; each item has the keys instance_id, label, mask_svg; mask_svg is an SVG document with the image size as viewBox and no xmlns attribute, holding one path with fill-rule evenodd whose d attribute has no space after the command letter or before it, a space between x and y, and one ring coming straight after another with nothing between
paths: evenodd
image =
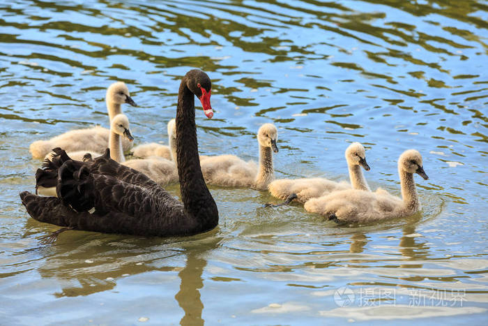
<instances>
[{"instance_id":1,"label":"rippled blue lake water surrounding the black swan and its cygnets","mask_svg":"<svg viewBox=\"0 0 488 326\"><path fill-rule=\"evenodd\" d=\"M486 325L486 1L6 0L0 13L1 325ZM114 80L139 105L123 108L136 142L167 143L193 67L213 81L201 154L257 160L273 122L278 178L346 179L359 141L369 184L399 195L397 158L415 148L422 212L336 225L211 187L220 223L206 234L40 244L57 227L20 204L40 165L29 144L107 126Z\"/></svg>"}]
</instances>

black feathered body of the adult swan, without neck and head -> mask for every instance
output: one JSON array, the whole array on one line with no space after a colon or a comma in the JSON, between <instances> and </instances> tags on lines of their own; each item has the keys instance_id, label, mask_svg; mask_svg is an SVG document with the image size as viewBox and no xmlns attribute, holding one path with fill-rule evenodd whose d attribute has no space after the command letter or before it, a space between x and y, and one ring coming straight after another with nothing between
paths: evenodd
<instances>
[{"instance_id":1,"label":"black feathered body of the adult swan, without neck and head","mask_svg":"<svg viewBox=\"0 0 488 326\"><path fill-rule=\"evenodd\" d=\"M97 160L96 169L80 166L77 161L64 162L58 171L59 198L21 193L27 212L38 221L78 230L158 236L197 232L195 218L190 218L183 204L158 184L130 168L119 170L125 173L123 178L136 183L129 184L112 176L111 169L119 163Z\"/></svg>"}]
</instances>

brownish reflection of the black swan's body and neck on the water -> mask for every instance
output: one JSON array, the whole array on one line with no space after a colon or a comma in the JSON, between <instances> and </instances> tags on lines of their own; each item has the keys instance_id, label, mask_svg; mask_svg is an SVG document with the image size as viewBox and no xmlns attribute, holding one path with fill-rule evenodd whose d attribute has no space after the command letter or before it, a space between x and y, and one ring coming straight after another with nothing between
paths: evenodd
<instances>
[{"instance_id":1,"label":"brownish reflection of the black swan's body and neck on the water","mask_svg":"<svg viewBox=\"0 0 488 326\"><path fill-rule=\"evenodd\" d=\"M116 302L103 302L104 305L126 306L130 313L131 306L149 300L146 315L151 318L158 306L157 316L167 309L175 313L177 306L171 304L174 297L183 309L181 325L204 325L201 317L204 304L200 297L204 287L202 274L207 257L220 242L222 237L215 235L215 231L174 243L170 239L64 232L56 246L49 246L46 251L49 256L38 272L43 279L56 279L61 286L61 291L54 293L58 298L117 292L119 299L112 297ZM96 255L86 259L90 252ZM183 267L178 266L185 258ZM174 282L176 273L180 279L178 288ZM149 287L147 290L142 286L136 293L118 292L118 283L139 284L141 278ZM102 323L104 316L100 317ZM95 316L91 319L97 322Z\"/></svg>"}]
</instances>

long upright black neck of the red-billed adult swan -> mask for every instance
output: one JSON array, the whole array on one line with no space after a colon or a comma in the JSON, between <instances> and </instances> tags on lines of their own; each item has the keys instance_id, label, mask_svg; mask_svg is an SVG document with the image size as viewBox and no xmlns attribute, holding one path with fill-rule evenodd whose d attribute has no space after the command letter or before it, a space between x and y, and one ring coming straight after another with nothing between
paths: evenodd
<instances>
[{"instance_id":1,"label":"long upright black neck of the red-billed adult swan","mask_svg":"<svg viewBox=\"0 0 488 326\"><path fill-rule=\"evenodd\" d=\"M195 124L195 94L181 81L176 109L176 158L181 200L188 214L208 225L218 223L218 210L201 174Z\"/></svg>"}]
</instances>

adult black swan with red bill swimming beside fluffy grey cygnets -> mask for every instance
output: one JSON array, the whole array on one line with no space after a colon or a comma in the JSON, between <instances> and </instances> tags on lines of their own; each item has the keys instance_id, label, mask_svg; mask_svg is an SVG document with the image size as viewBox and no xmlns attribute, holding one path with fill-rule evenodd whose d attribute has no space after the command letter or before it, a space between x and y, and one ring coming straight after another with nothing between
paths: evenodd
<instances>
[{"instance_id":1,"label":"adult black swan with red bill swimming beside fluffy grey cygnets","mask_svg":"<svg viewBox=\"0 0 488 326\"><path fill-rule=\"evenodd\" d=\"M75 230L130 235L195 235L215 228L218 209L201 175L194 94L206 117L211 118L211 80L197 69L181 80L176 110L176 155L183 203L146 175L110 159L109 149L86 162L70 160L66 152L56 149L59 155L51 168L57 169L59 198L20 193L29 215Z\"/></svg>"}]
</instances>

